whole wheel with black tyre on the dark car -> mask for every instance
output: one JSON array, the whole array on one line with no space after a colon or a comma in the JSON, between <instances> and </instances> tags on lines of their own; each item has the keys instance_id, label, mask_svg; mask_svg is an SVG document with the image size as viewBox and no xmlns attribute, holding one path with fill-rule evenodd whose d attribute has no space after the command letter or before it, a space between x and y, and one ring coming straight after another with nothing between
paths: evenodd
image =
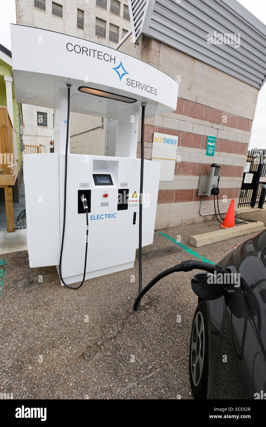
<instances>
[{"instance_id":1,"label":"whole wheel with black tyre on the dark car","mask_svg":"<svg viewBox=\"0 0 266 427\"><path fill-rule=\"evenodd\" d=\"M206 301L196 308L189 354L190 385L195 399L207 399L208 387L208 315Z\"/></svg>"}]
</instances>

